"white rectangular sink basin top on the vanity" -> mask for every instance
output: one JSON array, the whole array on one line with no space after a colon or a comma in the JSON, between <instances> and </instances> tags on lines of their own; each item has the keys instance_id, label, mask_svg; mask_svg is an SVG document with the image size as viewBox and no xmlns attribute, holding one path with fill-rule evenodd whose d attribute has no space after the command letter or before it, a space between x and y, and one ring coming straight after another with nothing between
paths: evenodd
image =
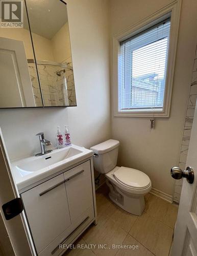
<instances>
[{"instance_id":1,"label":"white rectangular sink basin top on the vanity","mask_svg":"<svg viewBox=\"0 0 197 256\"><path fill-rule=\"evenodd\" d=\"M71 145L43 156L14 161L12 162L12 174L20 190L92 155L91 150Z\"/></svg>"}]
</instances>

